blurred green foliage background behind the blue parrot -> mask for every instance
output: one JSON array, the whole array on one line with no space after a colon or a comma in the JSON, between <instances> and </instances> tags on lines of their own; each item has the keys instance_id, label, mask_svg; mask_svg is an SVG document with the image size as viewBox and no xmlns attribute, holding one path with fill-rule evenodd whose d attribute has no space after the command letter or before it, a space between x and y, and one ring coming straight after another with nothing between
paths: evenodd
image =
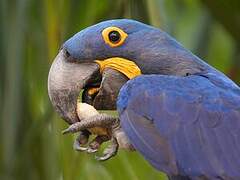
<instances>
[{"instance_id":1,"label":"blurred green foliage background behind the blue parrot","mask_svg":"<svg viewBox=\"0 0 240 180\"><path fill-rule=\"evenodd\" d=\"M0 179L166 179L138 153L104 163L72 149L53 111L47 76L61 43L113 18L160 27L209 64L240 80L238 0L1 0Z\"/></svg>"}]
</instances>

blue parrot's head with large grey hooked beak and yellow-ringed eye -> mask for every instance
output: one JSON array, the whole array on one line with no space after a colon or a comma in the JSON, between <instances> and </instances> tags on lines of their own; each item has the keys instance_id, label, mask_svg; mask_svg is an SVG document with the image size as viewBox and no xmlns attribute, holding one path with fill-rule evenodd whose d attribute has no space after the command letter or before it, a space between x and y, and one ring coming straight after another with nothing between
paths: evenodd
<instances>
[{"instance_id":1,"label":"blue parrot's head with large grey hooked beak and yellow-ringed eye","mask_svg":"<svg viewBox=\"0 0 240 180\"><path fill-rule=\"evenodd\" d=\"M184 76L202 71L205 66L160 29L128 19L101 22L67 40L51 66L48 77L49 97L63 119L70 124L78 121L76 103L82 89L83 100L94 102L94 107L98 104L97 109L116 108L117 93L103 92L108 92L109 87L110 91L119 91L128 80L125 77L128 76L127 72L112 71L112 75L102 73L102 62L116 59L121 59L117 61L117 66L123 72L124 69L131 72L132 66L123 67L121 62L132 62L142 74ZM103 86L103 81L108 78L105 76L113 77L114 81L110 78L109 83ZM87 90L93 88L97 90L91 91L94 93L89 95ZM103 99L109 99L109 102L99 103Z\"/></svg>"}]
</instances>

